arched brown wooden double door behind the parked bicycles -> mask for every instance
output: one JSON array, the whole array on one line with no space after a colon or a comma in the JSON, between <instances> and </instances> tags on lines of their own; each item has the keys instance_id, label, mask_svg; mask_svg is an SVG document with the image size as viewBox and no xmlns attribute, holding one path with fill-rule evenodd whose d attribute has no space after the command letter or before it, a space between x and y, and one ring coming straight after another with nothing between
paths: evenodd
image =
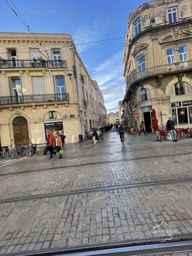
<instances>
[{"instance_id":1,"label":"arched brown wooden double door behind the parked bicycles","mask_svg":"<svg viewBox=\"0 0 192 256\"><path fill-rule=\"evenodd\" d=\"M29 143L29 133L27 119L23 116L17 116L13 120L13 132L15 145L26 145Z\"/></svg>"}]
</instances>

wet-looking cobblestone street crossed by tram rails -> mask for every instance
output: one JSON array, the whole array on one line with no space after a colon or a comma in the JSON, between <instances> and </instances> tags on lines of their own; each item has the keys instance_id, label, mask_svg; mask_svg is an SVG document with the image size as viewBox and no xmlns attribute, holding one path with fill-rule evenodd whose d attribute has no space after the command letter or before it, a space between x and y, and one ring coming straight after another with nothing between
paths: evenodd
<instances>
[{"instance_id":1,"label":"wet-looking cobblestone street crossed by tram rails","mask_svg":"<svg viewBox=\"0 0 192 256\"><path fill-rule=\"evenodd\" d=\"M157 238L162 221L192 236L192 139L104 136L1 163L1 254Z\"/></svg>"}]
</instances>

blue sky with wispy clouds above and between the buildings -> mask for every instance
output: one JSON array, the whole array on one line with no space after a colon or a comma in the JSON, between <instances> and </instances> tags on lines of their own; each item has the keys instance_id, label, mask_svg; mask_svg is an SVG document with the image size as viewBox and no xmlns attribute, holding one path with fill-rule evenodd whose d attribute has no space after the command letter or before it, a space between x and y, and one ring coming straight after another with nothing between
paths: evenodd
<instances>
[{"instance_id":1,"label":"blue sky with wispy clouds above and between the buildings","mask_svg":"<svg viewBox=\"0 0 192 256\"><path fill-rule=\"evenodd\" d=\"M10 0L7 0L10 3ZM12 0L34 33L71 34L76 44L126 36L129 14L146 1L97 0L52 1ZM7 10L8 9L8 10ZM1 0L1 32L28 32L10 7ZM33 10L42 10L32 13ZM44 13L54 10L52 13ZM38 13L39 12L39 13ZM42 13L41 13L42 12ZM125 39L79 46L84 64L101 89L125 87L123 52ZM104 96L108 110L118 108L123 96Z\"/></svg>"}]
</instances>

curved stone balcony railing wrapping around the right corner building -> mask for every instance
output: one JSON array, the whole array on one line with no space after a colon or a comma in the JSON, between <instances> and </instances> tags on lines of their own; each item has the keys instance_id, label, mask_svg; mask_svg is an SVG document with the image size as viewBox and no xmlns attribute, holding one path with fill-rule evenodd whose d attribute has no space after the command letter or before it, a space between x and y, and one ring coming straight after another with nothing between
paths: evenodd
<instances>
[{"instance_id":1,"label":"curved stone balcony railing wrapping around the right corner building","mask_svg":"<svg viewBox=\"0 0 192 256\"><path fill-rule=\"evenodd\" d=\"M128 76L127 88L129 88L131 84L134 84L150 76L159 76L167 73L180 72L187 69L192 69L192 60L147 68L138 73L130 74Z\"/></svg>"}]
</instances>

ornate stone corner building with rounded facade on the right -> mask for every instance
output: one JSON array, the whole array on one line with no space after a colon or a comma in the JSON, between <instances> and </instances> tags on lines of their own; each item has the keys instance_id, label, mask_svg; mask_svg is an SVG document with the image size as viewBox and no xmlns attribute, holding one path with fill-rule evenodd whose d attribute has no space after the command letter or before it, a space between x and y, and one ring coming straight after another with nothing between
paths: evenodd
<instances>
[{"instance_id":1,"label":"ornate stone corner building with rounded facade on the right","mask_svg":"<svg viewBox=\"0 0 192 256\"><path fill-rule=\"evenodd\" d=\"M124 51L124 125L192 127L192 2L152 1L130 14ZM134 113L139 117L134 118ZM162 120L161 120L162 118Z\"/></svg>"}]
</instances>

